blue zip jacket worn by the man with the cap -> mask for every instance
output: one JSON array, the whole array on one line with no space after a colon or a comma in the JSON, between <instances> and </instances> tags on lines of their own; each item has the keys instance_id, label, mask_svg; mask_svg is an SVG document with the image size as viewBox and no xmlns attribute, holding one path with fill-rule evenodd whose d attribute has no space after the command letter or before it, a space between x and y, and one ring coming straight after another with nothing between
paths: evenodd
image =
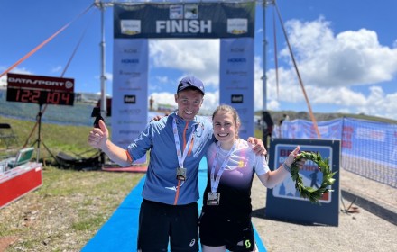
<instances>
[{"instance_id":1,"label":"blue zip jacket worn by the man with the cap","mask_svg":"<svg viewBox=\"0 0 397 252\"><path fill-rule=\"evenodd\" d=\"M172 130L172 121L177 118L180 149L188 142L190 133L193 139L183 165L187 168L187 179L177 180L178 157ZM127 148L129 155L137 160L150 150L150 161L143 186L143 198L166 204L188 204L199 200L199 162L214 141L212 123L209 118L196 116L194 121L184 121L175 112L152 121L134 142Z\"/></svg>"}]
</instances>

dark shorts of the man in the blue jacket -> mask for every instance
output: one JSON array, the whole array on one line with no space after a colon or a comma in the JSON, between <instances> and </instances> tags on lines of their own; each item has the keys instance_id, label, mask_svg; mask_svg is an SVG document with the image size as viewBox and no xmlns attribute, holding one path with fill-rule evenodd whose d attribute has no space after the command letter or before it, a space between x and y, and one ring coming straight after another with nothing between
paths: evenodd
<instances>
[{"instance_id":1,"label":"dark shorts of the man in the blue jacket","mask_svg":"<svg viewBox=\"0 0 397 252\"><path fill-rule=\"evenodd\" d=\"M169 205L143 200L139 214L138 249L145 251L199 251L197 202Z\"/></svg>"}]
</instances>

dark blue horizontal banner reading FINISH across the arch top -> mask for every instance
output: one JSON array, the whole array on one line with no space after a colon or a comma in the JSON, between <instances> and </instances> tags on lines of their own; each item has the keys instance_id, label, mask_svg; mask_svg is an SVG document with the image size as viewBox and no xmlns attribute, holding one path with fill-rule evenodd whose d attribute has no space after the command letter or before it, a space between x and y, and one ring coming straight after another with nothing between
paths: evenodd
<instances>
[{"instance_id":1,"label":"dark blue horizontal banner reading FINISH across the arch top","mask_svg":"<svg viewBox=\"0 0 397 252\"><path fill-rule=\"evenodd\" d=\"M115 38L254 37L255 2L114 4Z\"/></svg>"}]
</instances>

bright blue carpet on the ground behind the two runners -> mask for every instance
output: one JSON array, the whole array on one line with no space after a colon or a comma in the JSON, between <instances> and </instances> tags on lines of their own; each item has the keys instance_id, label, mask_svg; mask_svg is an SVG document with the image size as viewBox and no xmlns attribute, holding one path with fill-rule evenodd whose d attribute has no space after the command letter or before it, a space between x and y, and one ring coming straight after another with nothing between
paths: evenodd
<instances>
[{"instance_id":1,"label":"bright blue carpet on the ground behind the two runners","mask_svg":"<svg viewBox=\"0 0 397 252\"><path fill-rule=\"evenodd\" d=\"M199 167L199 191L203 194L207 184L207 160L203 158ZM97 234L82 248L83 252L91 251L136 251L138 234L138 216L141 207L145 176L125 200L115 210L112 217L97 231ZM199 209L202 207L202 197L199 200ZM264 202L263 202L264 203ZM259 251L266 252L262 240L255 229L255 240Z\"/></svg>"}]
</instances>

